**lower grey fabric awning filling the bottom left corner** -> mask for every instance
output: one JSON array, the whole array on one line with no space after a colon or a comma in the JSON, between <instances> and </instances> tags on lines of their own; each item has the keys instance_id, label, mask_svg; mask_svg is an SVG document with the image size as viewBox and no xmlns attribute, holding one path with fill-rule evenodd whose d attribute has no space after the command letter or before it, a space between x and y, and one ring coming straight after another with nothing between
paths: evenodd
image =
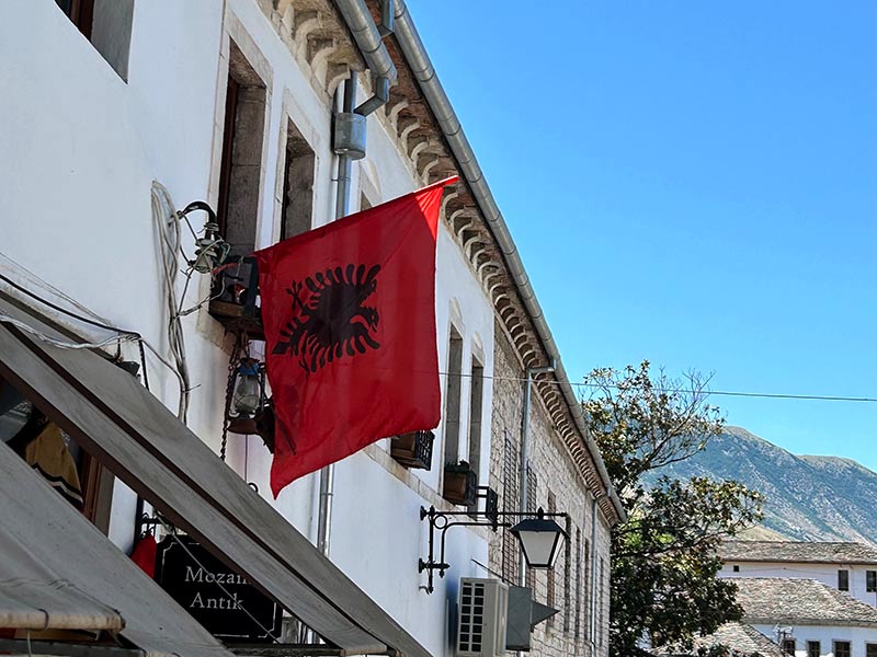
<instances>
[{"instance_id":1,"label":"lower grey fabric awning filling the bottom left corner","mask_svg":"<svg viewBox=\"0 0 877 657\"><path fill-rule=\"evenodd\" d=\"M3 442L0 555L0 627L106 630L148 654L232 657Z\"/></svg>"}]
</instances>

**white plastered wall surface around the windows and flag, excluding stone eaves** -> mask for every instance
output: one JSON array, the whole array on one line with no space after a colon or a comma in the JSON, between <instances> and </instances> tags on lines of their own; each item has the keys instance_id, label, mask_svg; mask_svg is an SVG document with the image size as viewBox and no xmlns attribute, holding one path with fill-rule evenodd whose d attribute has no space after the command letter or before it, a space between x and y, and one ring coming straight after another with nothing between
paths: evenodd
<instances>
[{"instance_id":1,"label":"white plastered wall surface around the windows and flag, excluding stone eaves","mask_svg":"<svg viewBox=\"0 0 877 657\"><path fill-rule=\"evenodd\" d=\"M315 224L333 216L335 158L328 97L315 90L309 72L291 56L255 0L228 0L225 15L223 7L217 0L137 0L126 83L50 0L5 0L0 5L0 85L7 90L0 103L0 253L114 325L141 333L162 351L164 301L150 185L153 180L166 185L178 207L194 199L215 205L230 38L267 87L257 245L267 245L278 234L280 135L287 117L316 154ZM377 194L372 199L377 203L421 184L374 116L368 119L368 159L354 166L352 208L358 206L361 171L362 188ZM492 308L444 228L437 272L440 367L444 370L449 309L456 303L463 319L457 328L465 344L464 371L480 342L490 376ZM206 291L206 280L193 284L187 304ZM189 425L218 450L228 341L205 312L186 318L184 327L195 387ZM137 358L136 351L129 356ZM152 392L175 408L175 379L155 359L148 367ZM483 474L491 391L488 379ZM468 394L464 379L462 451L467 450ZM441 427L436 436L433 469L414 473L407 483L364 452L338 465L331 556L428 649L442 654L455 583L460 576L485 575L471 560L487 563L487 541L469 529L452 532L447 558L453 569L436 579L434 595L419 590L424 577L417 561L425 557L426 544L419 509L435 502L441 486ZM259 438L229 435L228 462L269 495L270 454ZM296 482L274 503L311 538L317 480L311 475ZM111 534L123 549L129 546L133 506L133 495L119 489Z\"/></svg>"}]
</instances>

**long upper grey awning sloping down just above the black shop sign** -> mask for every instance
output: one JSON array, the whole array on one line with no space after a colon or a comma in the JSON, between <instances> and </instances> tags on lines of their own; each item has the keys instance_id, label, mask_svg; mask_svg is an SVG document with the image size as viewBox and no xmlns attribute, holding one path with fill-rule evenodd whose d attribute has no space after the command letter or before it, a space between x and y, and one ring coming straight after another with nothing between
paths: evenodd
<instances>
[{"instance_id":1,"label":"long upper grey awning sloping down just above the black shop sign","mask_svg":"<svg viewBox=\"0 0 877 657\"><path fill-rule=\"evenodd\" d=\"M0 299L2 315L69 339ZM121 368L0 322L0 376L176 527L343 652L429 656Z\"/></svg>"}]
</instances>

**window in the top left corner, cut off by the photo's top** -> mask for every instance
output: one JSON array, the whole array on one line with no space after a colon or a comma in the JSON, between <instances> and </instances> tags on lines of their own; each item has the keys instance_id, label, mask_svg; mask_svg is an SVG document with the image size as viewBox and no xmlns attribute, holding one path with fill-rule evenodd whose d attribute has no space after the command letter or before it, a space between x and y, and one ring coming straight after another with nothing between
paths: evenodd
<instances>
[{"instance_id":1,"label":"window in the top left corner, cut off by the photo's top","mask_svg":"<svg viewBox=\"0 0 877 657\"><path fill-rule=\"evenodd\" d=\"M55 0L123 80L128 79L134 0Z\"/></svg>"}]
</instances>

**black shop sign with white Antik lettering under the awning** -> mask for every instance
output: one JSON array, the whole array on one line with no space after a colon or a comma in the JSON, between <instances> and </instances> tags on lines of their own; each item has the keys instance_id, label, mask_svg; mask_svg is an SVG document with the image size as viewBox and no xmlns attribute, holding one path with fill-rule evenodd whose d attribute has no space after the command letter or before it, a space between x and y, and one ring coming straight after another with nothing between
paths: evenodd
<instances>
[{"instance_id":1,"label":"black shop sign with white Antik lettering under the awning","mask_svg":"<svg viewBox=\"0 0 877 657\"><path fill-rule=\"evenodd\" d=\"M156 581L224 642L272 643L281 635L281 606L190 537L159 543Z\"/></svg>"}]
</instances>

